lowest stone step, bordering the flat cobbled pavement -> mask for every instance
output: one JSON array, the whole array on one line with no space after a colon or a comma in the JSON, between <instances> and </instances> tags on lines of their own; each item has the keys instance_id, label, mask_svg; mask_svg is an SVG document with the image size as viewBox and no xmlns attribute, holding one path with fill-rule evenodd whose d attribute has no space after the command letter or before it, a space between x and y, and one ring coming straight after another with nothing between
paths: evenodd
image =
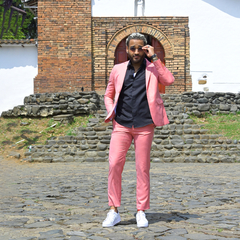
<instances>
[{"instance_id":1,"label":"lowest stone step, bordering the flat cobbled pavement","mask_svg":"<svg viewBox=\"0 0 240 240\"><path fill-rule=\"evenodd\" d=\"M76 152L35 152L26 154L27 161L31 162L105 162L108 161L106 151L76 151ZM129 150L127 161L135 161L135 152ZM240 162L239 151L153 151L152 162Z\"/></svg>"}]
</instances>

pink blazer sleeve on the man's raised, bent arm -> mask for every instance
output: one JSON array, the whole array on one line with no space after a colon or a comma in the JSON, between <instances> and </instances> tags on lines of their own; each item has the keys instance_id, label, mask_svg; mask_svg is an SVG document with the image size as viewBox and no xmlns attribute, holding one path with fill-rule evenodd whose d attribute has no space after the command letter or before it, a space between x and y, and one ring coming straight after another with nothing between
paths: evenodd
<instances>
[{"instance_id":1,"label":"pink blazer sleeve on the man's raised, bent arm","mask_svg":"<svg viewBox=\"0 0 240 240\"><path fill-rule=\"evenodd\" d=\"M164 86L171 85L174 82L174 76L172 73L161 63L159 59L153 62L153 64L158 72L158 81Z\"/></svg>"}]
</instances>

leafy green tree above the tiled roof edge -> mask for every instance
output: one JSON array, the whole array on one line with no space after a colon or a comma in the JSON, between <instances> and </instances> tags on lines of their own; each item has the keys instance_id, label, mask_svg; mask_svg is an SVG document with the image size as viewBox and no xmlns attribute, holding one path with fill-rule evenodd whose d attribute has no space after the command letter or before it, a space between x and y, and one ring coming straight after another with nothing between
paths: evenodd
<instances>
[{"instance_id":1,"label":"leafy green tree above the tiled roof edge","mask_svg":"<svg viewBox=\"0 0 240 240\"><path fill-rule=\"evenodd\" d=\"M37 27L34 20L34 14L29 9L23 8L23 3L21 0L13 0L12 6L22 9L26 12L26 17L23 25L23 15L17 11L13 11L11 16L11 8L6 12L4 17L3 3L4 0L0 0L0 35L3 25L2 39L37 38Z\"/></svg>"}]
</instances>

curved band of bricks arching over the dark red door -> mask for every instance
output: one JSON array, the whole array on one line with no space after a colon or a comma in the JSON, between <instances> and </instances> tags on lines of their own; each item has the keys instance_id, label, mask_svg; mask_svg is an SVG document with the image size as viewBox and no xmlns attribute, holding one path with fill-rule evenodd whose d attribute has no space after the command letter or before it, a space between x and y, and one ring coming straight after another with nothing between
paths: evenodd
<instances>
[{"instance_id":1,"label":"curved band of bricks arching over the dark red door","mask_svg":"<svg viewBox=\"0 0 240 240\"><path fill-rule=\"evenodd\" d=\"M147 24L138 24L125 27L114 34L107 45L107 58L109 60L114 60L115 50L121 40L134 32L140 32L153 36L162 44L165 51L165 58L173 58L173 45L161 30Z\"/></svg>"}]
</instances>

